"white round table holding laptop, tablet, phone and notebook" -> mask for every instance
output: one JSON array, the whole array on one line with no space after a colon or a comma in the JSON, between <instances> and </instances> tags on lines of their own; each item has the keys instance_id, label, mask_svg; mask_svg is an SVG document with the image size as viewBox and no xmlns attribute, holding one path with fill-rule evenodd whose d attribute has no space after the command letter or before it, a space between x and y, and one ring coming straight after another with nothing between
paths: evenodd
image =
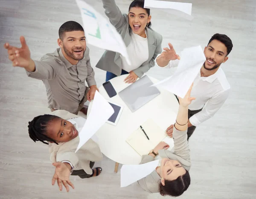
<instances>
[{"instance_id":1,"label":"white round table holding laptop, tablet, phone and notebook","mask_svg":"<svg viewBox=\"0 0 256 199\"><path fill-rule=\"evenodd\" d=\"M105 97L105 99L123 105L124 108L117 125L114 126L105 123L99 131L96 132L96 136L99 139L99 147L105 156L121 164L136 165L140 163L141 156L125 141L127 137L149 118L153 119L160 128L166 130L169 125L175 123L179 104L174 94L158 88L161 92L160 95L132 113L118 95L120 91L129 86L129 84L125 84L123 81L127 76L128 75L122 75L110 80L117 93L117 95L112 98L109 98L103 86L99 88L99 93ZM158 80L152 77L149 78L154 83L158 82ZM89 110L91 104L92 103L89 105ZM172 138L167 136L164 141L172 148Z\"/></svg>"}]
</instances>

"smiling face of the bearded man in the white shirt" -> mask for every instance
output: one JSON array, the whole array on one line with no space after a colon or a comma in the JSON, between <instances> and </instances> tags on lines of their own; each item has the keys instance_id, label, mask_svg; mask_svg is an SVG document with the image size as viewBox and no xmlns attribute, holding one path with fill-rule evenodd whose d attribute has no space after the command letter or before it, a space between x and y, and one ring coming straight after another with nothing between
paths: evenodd
<instances>
[{"instance_id":1,"label":"smiling face of the bearded man in the white shirt","mask_svg":"<svg viewBox=\"0 0 256 199\"><path fill-rule=\"evenodd\" d=\"M206 57L204 68L207 71L212 71L218 68L221 63L227 61L227 47L218 40L212 40L211 43L204 48L204 55Z\"/></svg>"}]
</instances>

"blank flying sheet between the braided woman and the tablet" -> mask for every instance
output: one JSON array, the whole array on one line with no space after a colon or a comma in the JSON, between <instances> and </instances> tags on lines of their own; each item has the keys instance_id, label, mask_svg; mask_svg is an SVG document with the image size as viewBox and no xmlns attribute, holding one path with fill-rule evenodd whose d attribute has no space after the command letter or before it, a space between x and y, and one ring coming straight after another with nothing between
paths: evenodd
<instances>
[{"instance_id":1,"label":"blank flying sheet between the braided woman and the tablet","mask_svg":"<svg viewBox=\"0 0 256 199\"><path fill-rule=\"evenodd\" d=\"M79 133L79 144L76 151L79 150L90 139L101 126L113 115L114 109L107 100L96 91L93 106L87 117L82 130Z\"/></svg>"}]
</instances>

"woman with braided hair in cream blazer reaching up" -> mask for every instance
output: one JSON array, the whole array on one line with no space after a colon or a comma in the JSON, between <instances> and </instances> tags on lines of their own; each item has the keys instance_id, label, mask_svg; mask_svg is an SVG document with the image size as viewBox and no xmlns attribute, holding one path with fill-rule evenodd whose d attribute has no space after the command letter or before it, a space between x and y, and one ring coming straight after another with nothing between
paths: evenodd
<instances>
[{"instance_id":1,"label":"woman with braided hair in cream blazer reaching up","mask_svg":"<svg viewBox=\"0 0 256 199\"><path fill-rule=\"evenodd\" d=\"M29 122L29 136L36 142L40 141L49 145L50 160L55 166L55 174L52 185L56 180L60 190L62 184L69 191L70 174L80 178L98 176L102 168L93 168L94 162L102 159L99 146L89 139L76 151L79 144L79 131L81 131L86 119L71 114L68 111L57 110L52 114L35 117Z\"/></svg>"}]
</instances>

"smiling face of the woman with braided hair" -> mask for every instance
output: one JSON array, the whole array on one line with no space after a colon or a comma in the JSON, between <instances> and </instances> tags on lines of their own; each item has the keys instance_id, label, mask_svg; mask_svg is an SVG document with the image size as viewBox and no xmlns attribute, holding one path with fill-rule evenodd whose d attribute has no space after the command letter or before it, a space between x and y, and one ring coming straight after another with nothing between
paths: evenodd
<instances>
[{"instance_id":1,"label":"smiling face of the woman with braided hair","mask_svg":"<svg viewBox=\"0 0 256 199\"><path fill-rule=\"evenodd\" d=\"M71 122L56 118L49 122L47 136L56 142L68 142L78 136L78 131Z\"/></svg>"}]
</instances>

